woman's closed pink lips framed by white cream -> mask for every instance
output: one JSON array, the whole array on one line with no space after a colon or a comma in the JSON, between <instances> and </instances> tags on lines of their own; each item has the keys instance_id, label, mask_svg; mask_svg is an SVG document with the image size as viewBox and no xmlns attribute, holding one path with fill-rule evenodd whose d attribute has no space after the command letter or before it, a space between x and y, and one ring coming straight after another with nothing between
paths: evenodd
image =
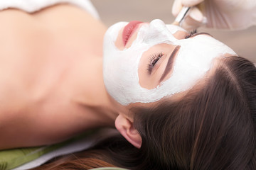
<instances>
[{"instance_id":1,"label":"woman's closed pink lips framed by white cream","mask_svg":"<svg viewBox=\"0 0 256 170\"><path fill-rule=\"evenodd\" d=\"M134 33L134 30L138 28L139 23L142 23L142 22L131 21L127 24L127 26L124 27L124 30L122 33L122 40L123 40L124 46L127 44L129 38L132 36L132 33Z\"/></svg>"}]
</instances>

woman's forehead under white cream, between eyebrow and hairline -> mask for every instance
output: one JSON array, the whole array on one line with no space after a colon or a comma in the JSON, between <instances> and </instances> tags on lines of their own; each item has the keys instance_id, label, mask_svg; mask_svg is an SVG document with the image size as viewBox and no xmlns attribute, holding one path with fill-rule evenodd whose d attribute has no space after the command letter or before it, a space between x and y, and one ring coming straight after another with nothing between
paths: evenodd
<instances>
[{"instance_id":1,"label":"woman's forehead under white cream, between eyebrow and hairline","mask_svg":"<svg viewBox=\"0 0 256 170\"><path fill-rule=\"evenodd\" d=\"M169 83L177 81L173 85L183 84L183 89L188 89L203 77L212 67L216 57L221 57L225 53L234 54L227 45L209 35L197 35L193 38L178 40L176 45L181 47L174 61L174 73L171 74Z\"/></svg>"}]
</instances>

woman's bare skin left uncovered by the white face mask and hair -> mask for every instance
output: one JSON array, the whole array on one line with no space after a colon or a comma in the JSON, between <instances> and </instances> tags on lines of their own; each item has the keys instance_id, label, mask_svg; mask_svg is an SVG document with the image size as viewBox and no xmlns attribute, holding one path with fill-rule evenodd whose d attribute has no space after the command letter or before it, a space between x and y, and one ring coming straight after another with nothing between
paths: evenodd
<instances>
[{"instance_id":1,"label":"woman's bare skin left uncovered by the white face mask and hair","mask_svg":"<svg viewBox=\"0 0 256 170\"><path fill-rule=\"evenodd\" d=\"M49 145L91 128L114 127L118 115L130 128L130 108L157 103L121 106L107 94L102 77L107 28L82 9L68 4L36 13L7 9L0 11L0 19L0 149ZM174 36L187 34L178 31ZM124 49L120 35L116 45ZM126 47L136 36L132 35ZM159 50L166 56L149 77L149 57ZM141 86L151 89L159 84L173 50L172 45L160 44L144 52L139 65Z\"/></svg>"}]
</instances>

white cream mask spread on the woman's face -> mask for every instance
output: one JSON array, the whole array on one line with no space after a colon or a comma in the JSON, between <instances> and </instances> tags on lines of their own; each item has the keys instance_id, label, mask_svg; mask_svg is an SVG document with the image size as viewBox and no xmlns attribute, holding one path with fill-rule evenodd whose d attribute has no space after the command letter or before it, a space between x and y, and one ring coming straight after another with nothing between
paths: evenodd
<instances>
[{"instance_id":1,"label":"white cream mask spread on the woman's face","mask_svg":"<svg viewBox=\"0 0 256 170\"><path fill-rule=\"evenodd\" d=\"M208 35L178 40L173 34L183 29L165 25L161 20L141 26L131 47L119 50L114 42L119 30L126 25L127 22L121 22L111 26L105 33L103 45L105 87L110 96L124 106L159 101L165 96L191 89L208 72L215 57L227 53L236 55L230 47ZM174 61L174 71L156 88L145 89L139 84L139 61L146 50L161 43L181 46Z\"/></svg>"}]
</instances>

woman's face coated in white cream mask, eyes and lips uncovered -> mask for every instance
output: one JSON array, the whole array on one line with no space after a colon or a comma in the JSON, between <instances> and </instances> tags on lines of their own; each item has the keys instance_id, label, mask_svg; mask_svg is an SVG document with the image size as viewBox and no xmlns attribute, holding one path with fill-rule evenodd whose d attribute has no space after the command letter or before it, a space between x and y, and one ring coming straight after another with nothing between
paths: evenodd
<instances>
[{"instance_id":1,"label":"woman's face coated in white cream mask, eyes and lips uncovered","mask_svg":"<svg viewBox=\"0 0 256 170\"><path fill-rule=\"evenodd\" d=\"M191 89L215 57L236 55L206 33L190 35L160 20L116 23L105 34L103 76L119 103L151 103Z\"/></svg>"}]
</instances>

